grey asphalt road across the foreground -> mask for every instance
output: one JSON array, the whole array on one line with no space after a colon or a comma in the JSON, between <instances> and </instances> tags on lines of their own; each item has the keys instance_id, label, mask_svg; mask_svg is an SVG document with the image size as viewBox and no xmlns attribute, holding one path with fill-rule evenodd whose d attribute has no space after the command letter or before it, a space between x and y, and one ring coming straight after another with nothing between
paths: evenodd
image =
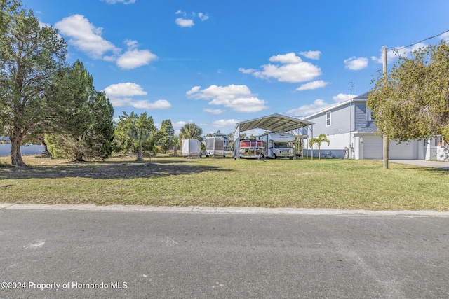
<instances>
[{"instance_id":1,"label":"grey asphalt road across the foreground","mask_svg":"<svg viewBox=\"0 0 449 299\"><path fill-rule=\"evenodd\" d=\"M0 298L449 298L448 281L444 216L0 210Z\"/></svg>"}]
</instances>

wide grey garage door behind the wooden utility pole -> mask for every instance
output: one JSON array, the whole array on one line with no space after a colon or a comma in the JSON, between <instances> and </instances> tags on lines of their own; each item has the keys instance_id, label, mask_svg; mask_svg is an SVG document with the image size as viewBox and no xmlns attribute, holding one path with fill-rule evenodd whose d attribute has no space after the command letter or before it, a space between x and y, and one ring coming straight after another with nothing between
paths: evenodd
<instances>
[{"instance_id":1,"label":"wide grey garage door behind the wooden utility pole","mask_svg":"<svg viewBox=\"0 0 449 299\"><path fill-rule=\"evenodd\" d=\"M363 158L364 159L383 159L384 141L382 137L367 136L363 137ZM389 159L417 159L418 141L403 142L398 144L396 141L389 143Z\"/></svg>"}]
</instances>

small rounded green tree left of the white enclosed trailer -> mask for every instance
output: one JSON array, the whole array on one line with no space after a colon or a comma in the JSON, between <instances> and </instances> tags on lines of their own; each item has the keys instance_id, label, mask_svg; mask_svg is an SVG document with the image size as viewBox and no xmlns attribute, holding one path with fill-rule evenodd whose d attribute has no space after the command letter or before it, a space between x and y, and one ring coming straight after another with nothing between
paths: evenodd
<instances>
[{"instance_id":1,"label":"small rounded green tree left of the white enclosed trailer","mask_svg":"<svg viewBox=\"0 0 449 299\"><path fill-rule=\"evenodd\" d=\"M130 115L123 112L114 133L114 150L136 154L137 160L142 161L145 151L153 151L157 133L152 116L147 116L146 112L140 116L134 112Z\"/></svg>"}]
</instances>

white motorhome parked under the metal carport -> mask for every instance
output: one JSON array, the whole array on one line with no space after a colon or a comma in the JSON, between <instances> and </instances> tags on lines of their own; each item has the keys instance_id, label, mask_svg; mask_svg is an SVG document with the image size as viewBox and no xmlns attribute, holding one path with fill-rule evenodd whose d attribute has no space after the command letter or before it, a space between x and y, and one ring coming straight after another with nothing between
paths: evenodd
<instances>
[{"instance_id":1,"label":"white motorhome parked under the metal carport","mask_svg":"<svg viewBox=\"0 0 449 299\"><path fill-rule=\"evenodd\" d=\"M260 135L259 140L264 141L265 149L262 153L263 157L268 158L288 158L295 157L295 151L290 146L290 142L295 141L295 136L290 133L269 132Z\"/></svg>"}]
</instances>

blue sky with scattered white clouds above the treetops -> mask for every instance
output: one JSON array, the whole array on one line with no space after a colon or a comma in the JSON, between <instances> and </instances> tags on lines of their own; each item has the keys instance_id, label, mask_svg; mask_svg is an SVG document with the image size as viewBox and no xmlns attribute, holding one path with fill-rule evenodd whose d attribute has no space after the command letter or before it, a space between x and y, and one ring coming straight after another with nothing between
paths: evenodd
<instances>
[{"instance_id":1,"label":"blue sky with scattered white clouds above the treetops","mask_svg":"<svg viewBox=\"0 0 449 299\"><path fill-rule=\"evenodd\" d=\"M114 105L179 132L232 132L361 95L400 48L449 30L449 1L23 0ZM448 39L438 35L424 44ZM416 47L415 46L415 47ZM401 50L409 51L410 48ZM394 52L388 53L389 67ZM349 90L354 83L354 91Z\"/></svg>"}]
</instances>

